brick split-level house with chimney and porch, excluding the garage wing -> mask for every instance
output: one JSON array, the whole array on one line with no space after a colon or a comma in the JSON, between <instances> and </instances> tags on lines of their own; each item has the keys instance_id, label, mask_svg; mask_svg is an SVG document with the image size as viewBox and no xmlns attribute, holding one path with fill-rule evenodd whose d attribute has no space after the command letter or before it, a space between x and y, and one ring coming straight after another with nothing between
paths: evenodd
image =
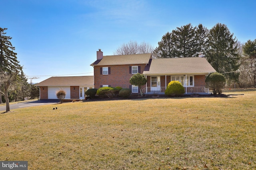
<instances>
[{"instance_id":1,"label":"brick split-level house with chimney and porch, excluding the garage wing","mask_svg":"<svg viewBox=\"0 0 256 170\"><path fill-rule=\"evenodd\" d=\"M121 86L130 88L132 93L139 93L137 86L129 79L133 74L141 73L147 78L142 88L145 94L164 93L172 80L181 82L188 93L208 93L205 78L216 70L204 57L152 59L152 54L103 56L97 51L94 67L94 87Z\"/></svg>"}]
</instances>

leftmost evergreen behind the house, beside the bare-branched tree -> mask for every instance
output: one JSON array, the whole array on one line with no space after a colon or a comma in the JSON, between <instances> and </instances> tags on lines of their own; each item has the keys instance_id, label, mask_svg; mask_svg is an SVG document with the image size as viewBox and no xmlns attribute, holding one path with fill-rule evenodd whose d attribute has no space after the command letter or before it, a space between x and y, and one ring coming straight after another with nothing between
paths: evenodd
<instances>
[{"instance_id":1,"label":"leftmost evergreen behind the house, beside the bare-branched tree","mask_svg":"<svg viewBox=\"0 0 256 170\"><path fill-rule=\"evenodd\" d=\"M156 58L174 58L175 50L172 33L167 32L158 42L158 47L154 50L153 55Z\"/></svg>"}]
</instances>

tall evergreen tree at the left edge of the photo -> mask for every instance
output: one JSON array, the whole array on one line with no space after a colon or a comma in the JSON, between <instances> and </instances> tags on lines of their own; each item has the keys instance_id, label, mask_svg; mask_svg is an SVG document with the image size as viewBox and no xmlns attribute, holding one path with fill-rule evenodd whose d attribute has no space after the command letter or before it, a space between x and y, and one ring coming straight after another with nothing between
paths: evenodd
<instances>
[{"instance_id":1,"label":"tall evergreen tree at the left edge of the photo","mask_svg":"<svg viewBox=\"0 0 256 170\"><path fill-rule=\"evenodd\" d=\"M6 36L4 31L7 28L0 27L0 93L4 95L6 100L6 112L10 111L8 92L14 82L17 81L18 74L22 67L17 60L17 53L14 53L15 47L9 36Z\"/></svg>"}]
</instances>

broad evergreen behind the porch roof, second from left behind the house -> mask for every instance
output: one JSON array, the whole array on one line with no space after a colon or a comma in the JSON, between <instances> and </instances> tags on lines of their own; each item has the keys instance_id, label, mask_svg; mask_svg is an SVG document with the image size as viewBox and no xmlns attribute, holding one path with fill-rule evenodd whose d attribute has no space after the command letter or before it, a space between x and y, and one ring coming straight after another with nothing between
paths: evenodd
<instances>
[{"instance_id":1,"label":"broad evergreen behind the porch roof, second from left behind the house","mask_svg":"<svg viewBox=\"0 0 256 170\"><path fill-rule=\"evenodd\" d=\"M175 57L195 57L196 37L195 29L191 23L177 27L172 31L173 42L176 47Z\"/></svg>"}]
</instances>

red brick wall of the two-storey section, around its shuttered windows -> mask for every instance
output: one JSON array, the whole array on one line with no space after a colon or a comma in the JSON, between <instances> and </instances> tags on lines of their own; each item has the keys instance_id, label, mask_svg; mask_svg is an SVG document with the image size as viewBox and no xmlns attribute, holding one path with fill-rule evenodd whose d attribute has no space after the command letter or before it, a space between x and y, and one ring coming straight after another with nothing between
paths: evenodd
<instances>
[{"instance_id":1,"label":"red brick wall of the two-storey section, around its shuttered windows","mask_svg":"<svg viewBox=\"0 0 256 170\"><path fill-rule=\"evenodd\" d=\"M140 66L140 72L142 73L146 64L94 66L94 88L100 88L102 85L129 88L131 85L129 79L133 75L129 73L129 66ZM100 67L110 67L110 74L100 74Z\"/></svg>"}]
</instances>

